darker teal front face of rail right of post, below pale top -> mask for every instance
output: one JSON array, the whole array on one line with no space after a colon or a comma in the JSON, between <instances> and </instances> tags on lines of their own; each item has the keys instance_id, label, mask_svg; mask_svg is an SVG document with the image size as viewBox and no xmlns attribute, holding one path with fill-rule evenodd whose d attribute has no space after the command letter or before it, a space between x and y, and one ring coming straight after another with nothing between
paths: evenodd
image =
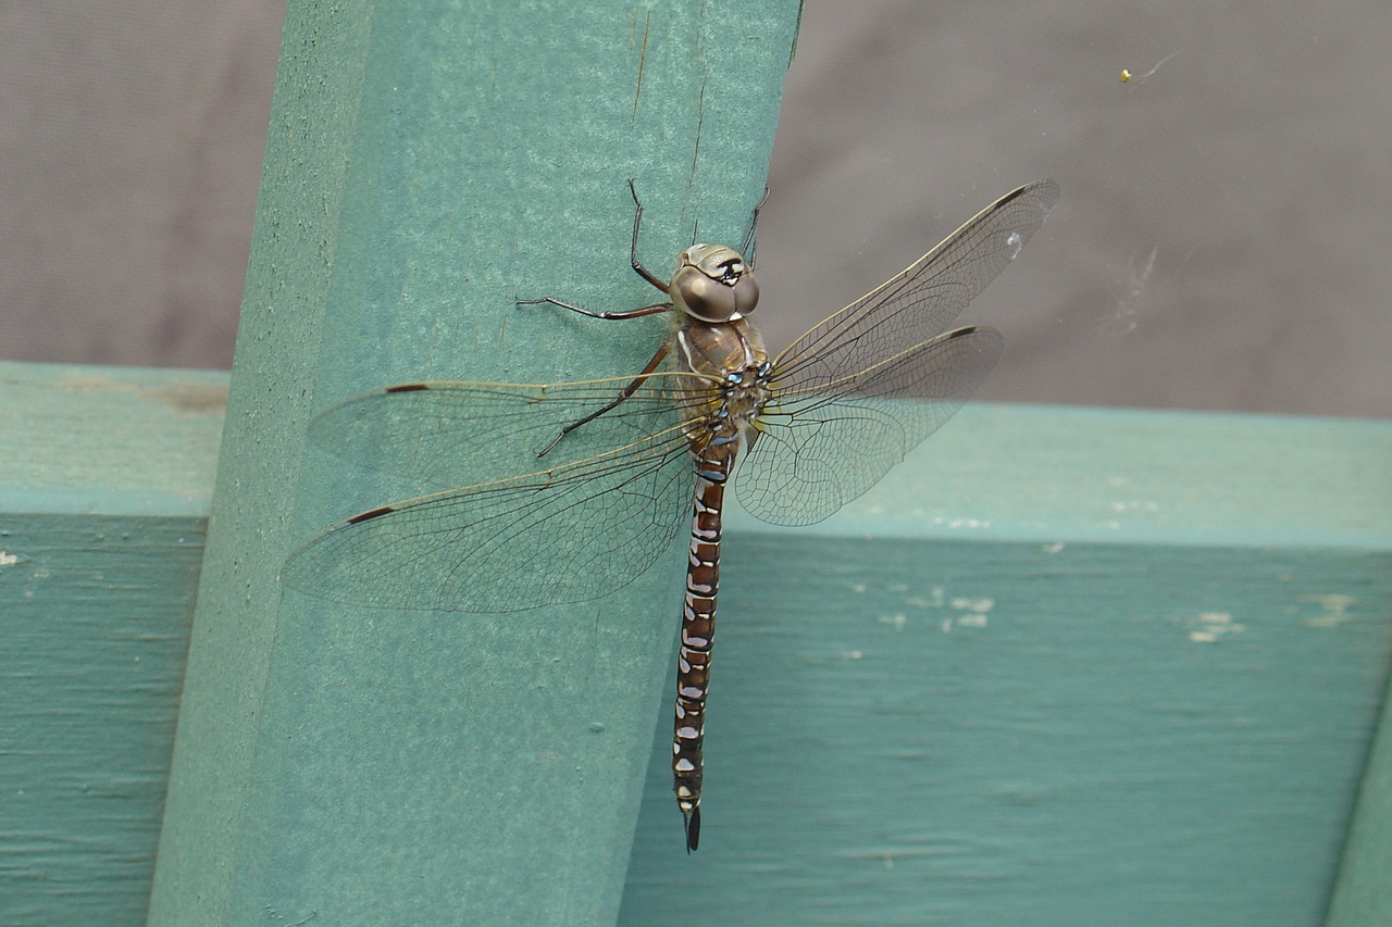
<instances>
[{"instance_id":1,"label":"darker teal front face of rail right of post, below pale top","mask_svg":"<svg viewBox=\"0 0 1392 927\"><path fill-rule=\"evenodd\" d=\"M1392 555L736 533L727 562L702 849L658 747L621 923L679 887L718 924L1321 923Z\"/></svg>"}]
</instances>

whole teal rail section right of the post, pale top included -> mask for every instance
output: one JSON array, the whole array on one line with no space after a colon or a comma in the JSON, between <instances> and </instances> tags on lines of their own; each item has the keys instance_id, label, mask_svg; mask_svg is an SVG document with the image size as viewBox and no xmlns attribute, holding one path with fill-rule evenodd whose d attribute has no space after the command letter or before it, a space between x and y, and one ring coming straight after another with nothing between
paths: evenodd
<instances>
[{"instance_id":1,"label":"whole teal rail section right of the post, pale top included","mask_svg":"<svg viewBox=\"0 0 1392 927\"><path fill-rule=\"evenodd\" d=\"M621 923L1321 923L1389 459L1386 423L977 405L820 526L734 521L702 850L658 743Z\"/></svg>"}]
</instances>

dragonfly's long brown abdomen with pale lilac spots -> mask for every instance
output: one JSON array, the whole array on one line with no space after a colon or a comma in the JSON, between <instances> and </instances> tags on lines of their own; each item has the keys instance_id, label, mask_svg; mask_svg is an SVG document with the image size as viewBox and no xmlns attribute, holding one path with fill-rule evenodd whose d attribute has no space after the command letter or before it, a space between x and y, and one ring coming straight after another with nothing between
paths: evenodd
<instances>
[{"instance_id":1,"label":"dragonfly's long brown abdomen with pale lilac spots","mask_svg":"<svg viewBox=\"0 0 1392 927\"><path fill-rule=\"evenodd\" d=\"M721 509L738 448L736 440L713 440L695 455L696 493L686 594L682 600L682 644L677 657L672 736L672 788L686 824L688 852L700 842L702 740L706 736L706 692L720 589Z\"/></svg>"}]
</instances>

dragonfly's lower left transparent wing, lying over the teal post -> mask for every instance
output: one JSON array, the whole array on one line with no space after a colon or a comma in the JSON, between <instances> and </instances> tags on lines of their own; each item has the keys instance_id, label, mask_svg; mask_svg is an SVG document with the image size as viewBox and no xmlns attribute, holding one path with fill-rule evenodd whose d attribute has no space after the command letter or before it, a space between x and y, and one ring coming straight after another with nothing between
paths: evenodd
<instances>
[{"instance_id":1,"label":"dragonfly's lower left transparent wing, lying over the teal post","mask_svg":"<svg viewBox=\"0 0 1392 927\"><path fill-rule=\"evenodd\" d=\"M690 505L679 427L599 457L384 505L291 554L281 580L376 608L507 612L619 589ZM537 529L537 530L533 530Z\"/></svg>"}]
</instances>

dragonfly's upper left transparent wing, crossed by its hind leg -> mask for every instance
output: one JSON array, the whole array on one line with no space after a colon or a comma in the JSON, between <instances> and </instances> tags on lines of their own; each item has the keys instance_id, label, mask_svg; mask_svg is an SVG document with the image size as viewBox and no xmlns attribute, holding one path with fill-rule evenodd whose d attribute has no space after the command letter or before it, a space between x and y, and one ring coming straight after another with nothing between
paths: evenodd
<instances>
[{"instance_id":1,"label":"dragonfly's upper left transparent wing, crossed by its hind leg","mask_svg":"<svg viewBox=\"0 0 1392 927\"><path fill-rule=\"evenodd\" d=\"M646 377L618 408L571 431L537 458L568 425L614 401L632 377L561 384L440 380L370 390L320 413L316 445L381 473L437 489L526 473L537 465L585 459L665 431L682 416L675 374ZM466 454L487 448L486 454Z\"/></svg>"}]
</instances>

